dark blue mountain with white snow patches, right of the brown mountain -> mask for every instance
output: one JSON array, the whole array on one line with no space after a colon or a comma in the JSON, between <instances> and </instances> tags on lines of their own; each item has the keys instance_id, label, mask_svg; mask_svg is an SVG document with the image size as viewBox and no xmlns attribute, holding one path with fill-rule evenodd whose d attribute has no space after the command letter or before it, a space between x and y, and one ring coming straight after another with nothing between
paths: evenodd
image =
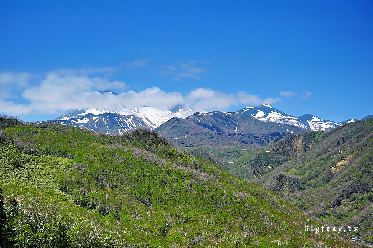
<instances>
[{"instance_id":1,"label":"dark blue mountain with white snow patches, right of the brown mountain","mask_svg":"<svg viewBox=\"0 0 373 248\"><path fill-rule=\"evenodd\" d=\"M305 114L303 116L292 116L284 113L269 104L261 104L254 107L244 107L237 112L246 113L258 120L265 122L275 122L279 124L289 124L303 128L304 130L327 130L336 128L345 123L354 122L356 119L335 122L332 120L322 120L313 115Z\"/></svg>"}]
</instances>

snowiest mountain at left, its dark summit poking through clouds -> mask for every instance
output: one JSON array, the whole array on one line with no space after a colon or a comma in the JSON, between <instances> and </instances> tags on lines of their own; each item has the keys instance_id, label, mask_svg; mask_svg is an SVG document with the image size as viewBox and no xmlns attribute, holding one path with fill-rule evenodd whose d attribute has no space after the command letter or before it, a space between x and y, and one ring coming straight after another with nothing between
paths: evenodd
<instances>
[{"instance_id":1,"label":"snowiest mountain at left, its dark summit poking through clouds","mask_svg":"<svg viewBox=\"0 0 373 248\"><path fill-rule=\"evenodd\" d=\"M101 94L117 95L111 90L99 92ZM173 117L184 119L195 112L206 111L197 110L190 105L177 105L167 110L161 110L147 106L135 109L127 105L118 104L112 109L93 107L91 109L69 110L54 121L79 128L116 133L136 128L154 129Z\"/></svg>"}]
</instances>

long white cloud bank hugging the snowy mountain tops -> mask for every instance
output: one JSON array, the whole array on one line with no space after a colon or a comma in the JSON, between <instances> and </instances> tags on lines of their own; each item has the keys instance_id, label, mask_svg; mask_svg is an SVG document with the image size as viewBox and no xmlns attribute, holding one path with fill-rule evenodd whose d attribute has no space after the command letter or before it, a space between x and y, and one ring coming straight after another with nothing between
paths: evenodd
<instances>
[{"instance_id":1,"label":"long white cloud bank hugging the snowy mountain tops","mask_svg":"<svg viewBox=\"0 0 373 248\"><path fill-rule=\"evenodd\" d=\"M102 70L106 72L110 69ZM36 76L29 73L0 73L0 85L4 89L0 95L0 112L8 115L60 115L70 109L115 109L118 104L134 108L151 106L162 110L177 104L189 104L207 111L226 111L235 106L271 104L279 100L272 97L263 99L244 91L227 94L210 88L195 88L184 94L178 91L166 92L159 87L134 91L128 89L128 85L123 81L90 76L97 71L51 71L41 76L38 81L35 81ZM31 84L32 78L34 81ZM107 89L118 95L98 92ZM14 100L17 98L13 96L14 92L18 92L18 101Z\"/></svg>"}]
</instances>

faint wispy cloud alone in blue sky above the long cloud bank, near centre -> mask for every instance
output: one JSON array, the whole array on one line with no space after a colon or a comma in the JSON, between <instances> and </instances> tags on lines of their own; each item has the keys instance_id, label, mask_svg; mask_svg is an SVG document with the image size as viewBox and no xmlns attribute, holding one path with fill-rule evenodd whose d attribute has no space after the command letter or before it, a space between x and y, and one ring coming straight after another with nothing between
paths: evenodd
<instances>
[{"instance_id":1,"label":"faint wispy cloud alone in blue sky above the long cloud bank, near centre","mask_svg":"<svg viewBox=\"0 0 373 248\"><path fill-rule=\"evenodd\" d=\"M174 65L169 65L163 67L159 70L161 75L170 75L172 76L172 80L180 80L181 78L193 78L193 79L200 79L200 75L205 73L205 66L210 64L206 61L195 61L195 60L188 60L188 61L178 61Z\"/></svg>"}]
</instances>

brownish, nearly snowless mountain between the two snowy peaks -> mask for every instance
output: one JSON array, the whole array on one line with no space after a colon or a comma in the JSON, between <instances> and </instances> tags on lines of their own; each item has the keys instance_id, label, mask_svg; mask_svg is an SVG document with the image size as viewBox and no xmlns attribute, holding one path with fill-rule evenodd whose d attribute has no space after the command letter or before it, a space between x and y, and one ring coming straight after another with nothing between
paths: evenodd
<instances>
[{"instance_id":1,"label":"brownish, nearly snowless mountain between the two snowy peaks","mask_svg":"<svg viewBox=\"0 0 373 248\"><path fill-rule=\"evenodd\" d=\"M181 146L263 146L290 133L303 132L289 124L263 122L239 112L195 113L186 119L172 118L154 129Z\"/></svg>"}]
</instances>

